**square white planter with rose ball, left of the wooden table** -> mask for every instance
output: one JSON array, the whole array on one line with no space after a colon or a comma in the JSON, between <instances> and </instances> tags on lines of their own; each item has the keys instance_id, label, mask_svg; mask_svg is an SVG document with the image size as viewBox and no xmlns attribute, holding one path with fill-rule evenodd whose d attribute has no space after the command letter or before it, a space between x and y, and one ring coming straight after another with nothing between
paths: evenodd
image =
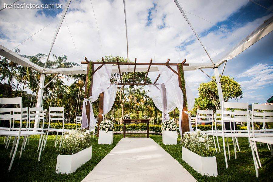
<instances>
[{"instance_id":1,"label":"square white planter with rose ball, left of the wooden table","mask_svg":"<svg viewBox=\"0 0 273 182\"><path fill-rule=\"evenodd\" d=\"M103 120L99 125L98 144L112 144L114 138L114 123L111 120Z\"/></svg>"}]
</instances>

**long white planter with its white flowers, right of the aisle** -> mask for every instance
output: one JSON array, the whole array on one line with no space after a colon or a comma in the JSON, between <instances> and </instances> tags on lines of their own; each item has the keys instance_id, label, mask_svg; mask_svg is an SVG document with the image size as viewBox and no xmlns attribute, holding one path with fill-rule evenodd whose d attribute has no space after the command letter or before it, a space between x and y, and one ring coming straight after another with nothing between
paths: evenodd
<instances>
[{"instance_id":1,"label":"long white planter with its white flowers, right of the aisle","mask_svg":"<svg viewBox=\"0 0 273 182\"><path fill-rule=\"evenodd\" d=\"M214 143L207 134L200 132L196 130L183 134L180 141L182 159L202 175L217 176L216 157L212 150Z\"/></svg>"}]
</instances>

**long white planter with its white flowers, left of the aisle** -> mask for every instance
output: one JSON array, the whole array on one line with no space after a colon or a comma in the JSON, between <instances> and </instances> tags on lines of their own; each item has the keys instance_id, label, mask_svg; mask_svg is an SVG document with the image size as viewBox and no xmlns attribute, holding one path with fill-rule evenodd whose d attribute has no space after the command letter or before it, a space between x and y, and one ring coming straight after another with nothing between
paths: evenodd
<instances>
[{"instance_id":1,"label":"long white planter with its white flowers, left of the aisle","mask_svg":"<svg viewBox=\"0 0 273 182\"><path fill-rule=\"evenodd\" d=\"M62 145L57 149L58 157L56 173L70 174L92 157L92 134L71 130L62 139ZM60 141L59 141L60 142Z\"/></svg>"}]
</instances>

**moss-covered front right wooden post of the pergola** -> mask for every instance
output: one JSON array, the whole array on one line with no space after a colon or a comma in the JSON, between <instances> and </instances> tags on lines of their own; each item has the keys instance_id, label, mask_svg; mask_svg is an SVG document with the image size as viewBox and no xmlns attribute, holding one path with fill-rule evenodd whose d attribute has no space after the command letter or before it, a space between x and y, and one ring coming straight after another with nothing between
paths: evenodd
<instances>
[{"instance_id":1,"label":"moss-covered front right wooden post of the pergola","mask_svg":"<svg viewBox=\"0 0 273 182\"><path fill-rule=\"evenodd\" d=\"M186 62L186 59L182 62L182 63L178 63L177 65L177 71L178 71L178 83L179 83L179 87L182 90L183 93L183 111L187 111L187 95L186 95L186 87L185 87L185 78L184 78L184 69L183 69L183 65ZM182 134L190 131L190 126L189 126L189 117L188 115L183 112L182 113Z\"/></svg>"}]
</instances>

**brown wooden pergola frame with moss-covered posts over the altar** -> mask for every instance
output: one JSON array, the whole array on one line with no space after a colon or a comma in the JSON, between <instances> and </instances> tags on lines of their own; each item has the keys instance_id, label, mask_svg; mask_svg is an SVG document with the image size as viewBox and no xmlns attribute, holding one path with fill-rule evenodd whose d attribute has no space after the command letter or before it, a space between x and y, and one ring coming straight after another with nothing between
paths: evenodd
<instances>
[{"instance_id":1,"label":"brown wooden pergola frame with moss-covered posts over the altar","mask_svg":"<svg viewBox=\"0 0 273 182\"><path fill-rule=\"evenodd\" d=\"M93 87L93 74L98 71L103 65L105 64L112 64L112 65L117 65L118 69L119 69L119 74L120 74L120 83L117 83L118 85L148 85L148 83L146 83L147 81L147 76L148 73L150 71L150 67L152 65L154 66L167 66L170 70L172 70L177 76L178 76L178 84L179 87L182 90L183 93L183 97L184 97L184 102L183 102L183 111L187 111L187 96L186 96L186 89L185 89L185 79L184 79L184 69L183 66L189 66L188 63L186 62L186 59L184 59L184 61L182 63L169 63L170 59L167 60L166 63L153 63L153 59L150 60L150 62L119 62L119 58L117 57L116 62L105 62L103 57L102 57L102 62L92 62L92 61L88 61L88 59L85 57L86 61L81 62L82 64L87 64L87 71L86 71L86 83L85 83L85 98L89 98L92 95L92 87ZM97 69L94 69L95 64L100 64L100 66ZM133 74L133 83L123 83L122 81L122 74L120 71L120 65L134 65L134 74ZM136 65L148 65L148 69L147 69L147 73L144 79L143 83L135 83L135 74L136 74ZM181 65L181 67L179 67L179 65ZM90 90L88 90L88 82L89 82L89 71L90 71L90 66L91 66L91 87ZM177 66L177 72L170 66ZM182 68L182 71L181 71ZM180 70L180 71L179 71ZM181 75L183 74L183 75ZM153 83L154 85L158 85L157 84L157 80L159 79L160 74L157 76L155 82ZM183 78L183 79L181 79ZM184 87L182 87L182 85L184 85ZM88 93L88 94L86 94ZM99 115L98 115L98 126L101 123L101 121L103 120L103 116L101 115L103 114L103 92L100 93L99 95ZM87 115L87 119L88 122L90 121L90 107L89 107L89 102L88 102L88 106L86 107L86 115ZM187 131L190 130L189 128L189 119L188 119L188 115L183 112L182 113L182 133L185 133ZM88 127L89 129L89 127ZM99 127L98 127L98 133L99 133Z\"/></svg>"}]
</instances>

